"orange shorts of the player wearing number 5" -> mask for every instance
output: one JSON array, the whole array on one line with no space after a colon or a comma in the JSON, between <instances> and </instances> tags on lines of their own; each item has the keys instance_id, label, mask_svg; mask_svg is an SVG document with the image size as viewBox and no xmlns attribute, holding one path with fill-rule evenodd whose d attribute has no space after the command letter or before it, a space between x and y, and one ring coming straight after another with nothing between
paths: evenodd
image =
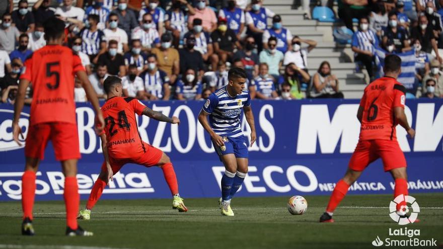
<instances>
[{"instance_id":1,"label":"orange shorts of the player wearing number 5","mask_svg":"<svg viewBox=\"0 0 443 249\"><path fill-rule=\"evenodd\" d=\"M31 125L26 137L25 156L42 160L49 140L52 141L57 160L81 157L77 124L63 122Z\"/></svg>"}]
</instances>

